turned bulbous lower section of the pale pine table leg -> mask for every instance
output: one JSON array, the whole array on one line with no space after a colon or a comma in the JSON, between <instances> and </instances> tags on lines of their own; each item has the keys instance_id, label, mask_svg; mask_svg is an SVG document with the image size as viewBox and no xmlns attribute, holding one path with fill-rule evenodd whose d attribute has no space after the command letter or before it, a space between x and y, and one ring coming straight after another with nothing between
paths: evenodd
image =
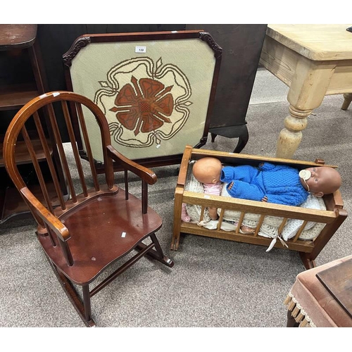
<instances>
[{"instance_id":1,"label":"turned bulbous lower section of the pale pine table leg","mask_svg":"<svg viewBox=\"0 0 352 352\"><path fill-rule=\"evenodd\" d=\"M307 117L312 110L299 110L289 106L289 115L284 120L284 129L277 140L277 158L291 159L302 139L302 130L307 127Z\"/></svg>"}]
</instances>

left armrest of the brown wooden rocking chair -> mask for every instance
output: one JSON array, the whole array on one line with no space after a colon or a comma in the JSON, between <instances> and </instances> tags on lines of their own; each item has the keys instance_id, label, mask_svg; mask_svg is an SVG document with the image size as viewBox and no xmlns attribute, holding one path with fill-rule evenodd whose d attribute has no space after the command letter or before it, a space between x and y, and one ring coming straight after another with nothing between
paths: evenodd
<instances>
[{"instance_id":1,"label":"left armrest of the brown wooden rocking chair","mask_svg":"<svg viewBox=\"0 0 352 352\"><path fill-rule=\"evenodd\" d=\"M20 193L25 197L27 202L30 203L32 209L37 213L39 218L41 218L46 225L50 227L51 230L55 232L55 234L61 239L61 241L67 241L70 239L70 232L68 228L63 225L63 223L56 218L53 214L50 213L45 206L32 194L30 189L27 187L23 187L20 189Z\"/></svg>"}]
</instances>

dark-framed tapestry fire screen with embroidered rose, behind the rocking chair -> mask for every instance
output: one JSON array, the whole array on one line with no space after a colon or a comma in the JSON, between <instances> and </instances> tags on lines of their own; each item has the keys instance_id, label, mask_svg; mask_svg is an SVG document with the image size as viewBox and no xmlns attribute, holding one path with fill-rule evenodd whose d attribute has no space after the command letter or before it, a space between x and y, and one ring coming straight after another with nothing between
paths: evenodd
<instances>
[{"instance_id":1,"label":"dark-framed tapestry fire screen with embroidered rose, behind the rocking chair","mask_svg":"<svg viewBox=\"0 0 352 352\"><path fill-rule=\"evenodd\" d=\"M200 30L85 34L63 61L68 90L101 108L113 146L152 166L179 163L187 144L206 143L221 54L211 35ZM90 114L84 111L94 134ZM92 152L99 165L98 135Z\"/></svg>"}]
</instances>

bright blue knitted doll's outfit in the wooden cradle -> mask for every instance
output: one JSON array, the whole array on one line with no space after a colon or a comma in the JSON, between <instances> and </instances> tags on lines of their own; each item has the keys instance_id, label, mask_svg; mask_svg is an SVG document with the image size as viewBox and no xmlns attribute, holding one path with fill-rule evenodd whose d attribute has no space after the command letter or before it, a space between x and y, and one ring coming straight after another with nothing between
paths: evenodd
<instances>
[{"instance_id":1,"label":"bright blue knitted doll's outfit in the wooden cradle","mask_svg":"<svg viewBox=\"0 0 352 352\"><path fill-rule=\"evenodd\" d=\"M308 191L301 184L298 170L287 165L261 163L258 168L250 165L224 166L220 181L234 182L227 188L230 196L252 201L268 197L269 203L299 206L306 201Z\"/></svg>"}]
</instances>

